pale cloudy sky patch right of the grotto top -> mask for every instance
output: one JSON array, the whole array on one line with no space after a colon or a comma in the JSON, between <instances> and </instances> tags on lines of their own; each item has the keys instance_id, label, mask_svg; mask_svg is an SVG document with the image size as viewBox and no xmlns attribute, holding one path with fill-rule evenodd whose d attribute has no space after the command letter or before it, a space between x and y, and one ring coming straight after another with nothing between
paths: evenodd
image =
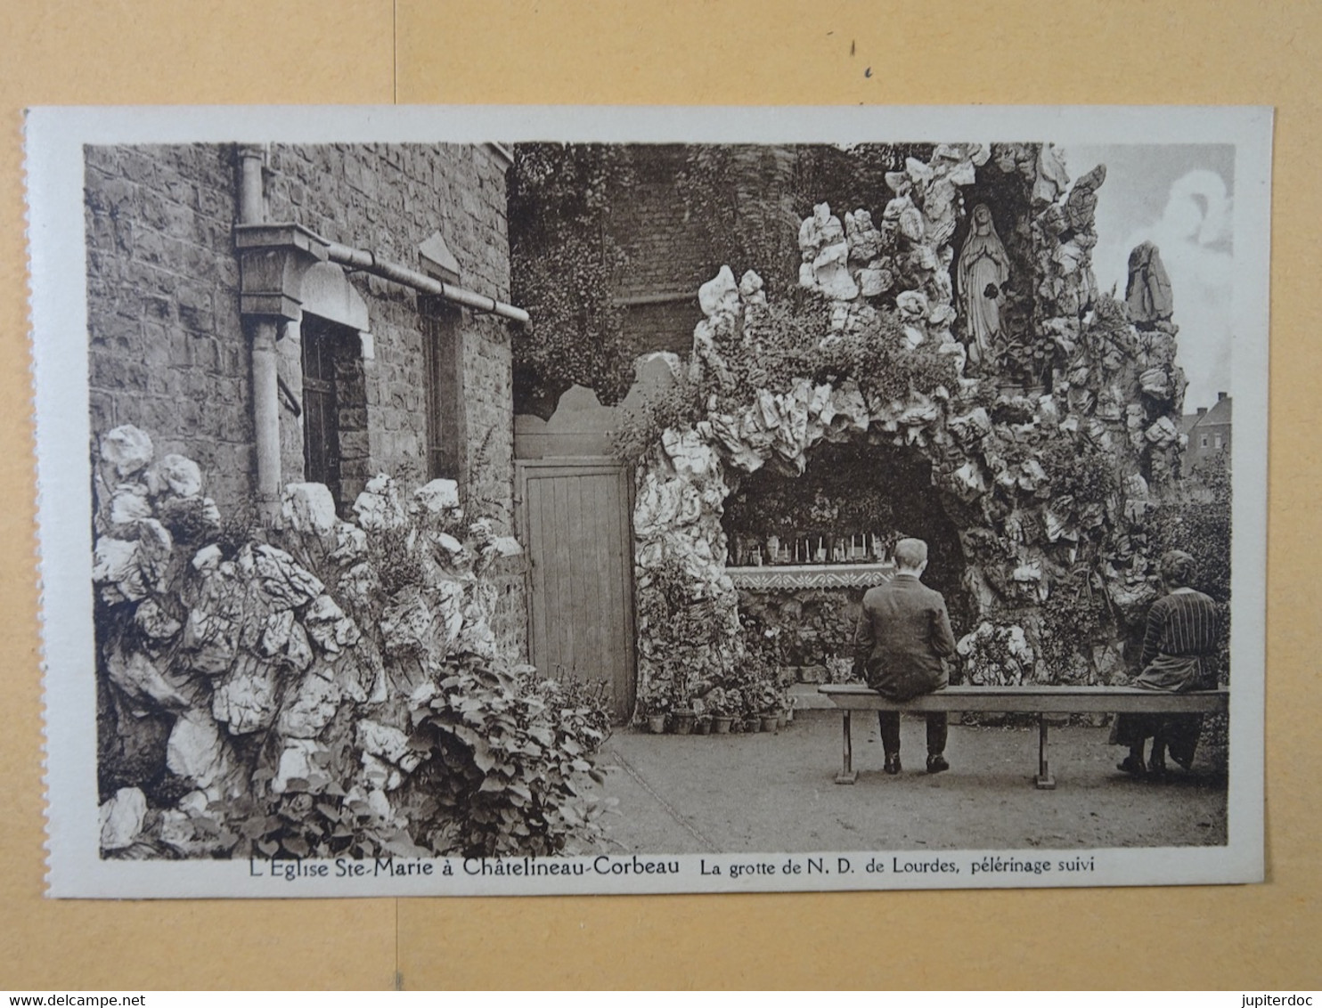
<instances>
[{"instance_id":1,"label":"pale cloudy sky patch right of the grotto top","mask_svg":"<svg viewBox=\"0 0 1322 1008\"><path fill-rule=\"evenodd\" d=\"M1185 412L1229 391L1235 148L1225 144L1130 144L1058 148L1069 177L1097 164L1097 287L1125 296L1129 252L1153 242L1170 276L1179 326L1177 361L1188 390Z\"/></svg>"}]
</instances>

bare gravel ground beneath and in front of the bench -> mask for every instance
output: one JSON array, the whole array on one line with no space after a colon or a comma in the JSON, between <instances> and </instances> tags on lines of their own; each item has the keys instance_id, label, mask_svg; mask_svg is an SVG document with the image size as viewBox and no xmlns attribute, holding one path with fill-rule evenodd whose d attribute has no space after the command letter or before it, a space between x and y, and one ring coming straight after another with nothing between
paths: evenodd
<instances>
[{"instance_id":1,"label":"bare gravel ground beneath and in front of the bench","mask_svg":"<svg viewBox=\"0 0 1322 1008\"><path fill-rule=\"evenodd\" d=\"M1206 752L1165 783L1116 770L1108 729L1054 727L1056 790L1032 786L1034 728L951 725L951 770L924 772L920 719L903 721L904 770L882 773L876 721L854 716L858 783L834 783L839 715L806 712L777 733L646 735L607 742L616 852L1014 849L1225 843L1225 775Z\"/></svg>"}]
</instances>

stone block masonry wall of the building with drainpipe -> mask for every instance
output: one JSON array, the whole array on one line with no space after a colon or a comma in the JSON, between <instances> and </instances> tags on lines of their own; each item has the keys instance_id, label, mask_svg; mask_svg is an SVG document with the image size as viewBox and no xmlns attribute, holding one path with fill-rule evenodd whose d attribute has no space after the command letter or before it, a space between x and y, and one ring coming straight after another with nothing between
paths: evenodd
<instances>
[{"instance_id":1,"label":"stone block masonry wall of the building with drainpipe","mask_svg":"<svg viewBox=\"0 0 1322 1008\"><path fill-rule=\"evenodd\" d=\"M459 262L460 284L508 301L505 170L502 155L481 145L275 144L264 172L266 219L292 221L410 268L420 268L418 246L439 231ZM237 173L227 144L85 148L93 432L134 424L163 452L196 458L226 514L247 505L255 484L234 248ZM430 477L424 305L416 292L377 277L350 273L349 281L368 305L373 354L361 365L361 392L341 404L341 505L375 473L405 485ZM299 338L299 326L288 326L278 343L283 482L304 478ZM464 309L456 338L467 421L456 435L463 444L453 445L461 469L453 476L506 534L514 518L509 332ZM500 606L496 630L522 651L522 579L514 571L506 580L498 587L510 602Z\"/></svg>"}]
</instances>

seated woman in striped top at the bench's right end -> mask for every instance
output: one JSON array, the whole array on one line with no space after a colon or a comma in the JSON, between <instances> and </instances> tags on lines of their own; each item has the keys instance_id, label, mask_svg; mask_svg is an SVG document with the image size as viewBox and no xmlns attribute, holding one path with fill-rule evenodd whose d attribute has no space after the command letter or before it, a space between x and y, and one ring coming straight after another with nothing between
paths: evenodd
<instances>
[{"instance_id":1,"label":"seated woman in striped top at the bench's right end","mask_svg":"<svg viewBox=\"0 0 1322 1008\"><path fill-rule=\"evenodd\" d=\"M1140 659L1142 672L1134 686L1177 694L1216 687L1215 672L1207 659L1216 650L1220 613L1216 602L1190 587L1195 567L1194 558L1181 550L1162 556L1158 569L1167 594L1153 602L1147 612ZM1129 756L1117 764L1117 769L1134 775L1149 773L1162 777L1169 749L1170 758L1187 770L1194 762L1202 724L1203 716L1196 713L1116 715L1110 742L1129 746ZM1153 740L1153 749L1145 765L1144 744L1147 738Z\"/></svg>"}]
</instances>

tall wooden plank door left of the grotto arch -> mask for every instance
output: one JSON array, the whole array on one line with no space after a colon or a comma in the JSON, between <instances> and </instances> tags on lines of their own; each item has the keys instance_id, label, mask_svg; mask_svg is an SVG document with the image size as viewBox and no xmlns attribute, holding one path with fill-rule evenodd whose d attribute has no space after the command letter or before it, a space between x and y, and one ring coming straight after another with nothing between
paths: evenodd
<instances>
[{"instance_id":1,"label":"tall wooden plank door left of the grotto arch","mask_svg":"<svg viewBox=\"0 0 1322 1008\"><path fill-rule=\"evenodd\" d=\"M517 464L529 653L543 675L604 682L633 709L632 481L605 461Z\"/></svg>"}]
</instances>

